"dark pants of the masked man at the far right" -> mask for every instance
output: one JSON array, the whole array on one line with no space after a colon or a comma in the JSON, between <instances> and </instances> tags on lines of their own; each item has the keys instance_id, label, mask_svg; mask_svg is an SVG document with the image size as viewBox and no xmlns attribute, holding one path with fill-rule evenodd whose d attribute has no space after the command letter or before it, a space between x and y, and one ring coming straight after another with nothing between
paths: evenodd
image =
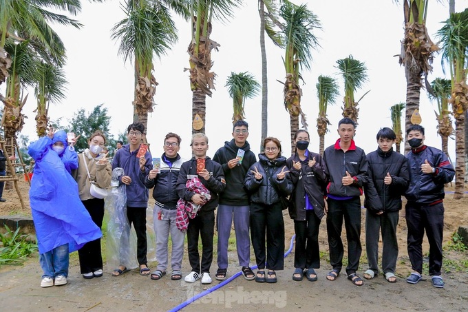
<instances>
[{"instance_id":1,"label":"dark pants of the masked man at the far right","mask_svg":"<svg viewBox=\"0 0 468 312\"><path fill-rule=\"evenodd\" d=\"M425 206L407 202L405 208L408 256L412 269L423 273L423 237L426 231L429 241L429 275L440 275L444 229L443 203Z\"/></svg>"}]
</instances>

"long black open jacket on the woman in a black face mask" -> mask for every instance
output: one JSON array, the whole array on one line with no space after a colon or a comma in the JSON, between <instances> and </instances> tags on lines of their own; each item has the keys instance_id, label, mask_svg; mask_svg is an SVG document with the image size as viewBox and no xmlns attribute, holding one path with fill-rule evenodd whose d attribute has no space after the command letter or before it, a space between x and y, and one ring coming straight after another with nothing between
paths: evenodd
<instances>
[{"instance_id":1,"label":"long black open jacket on the woman in a black face mask","mask_svg":"<svg viewBox=\"0 0 468 312\"><path fill-rule=\"evenodd\" d=\"M315 158L315 165L309 167L309 160ZM292 165L292 160L301 162L301 169L297 170ZM320 219L323 213L324 197L326 196L326 186L328 183L328 169L323 158L317 153L308 151L308 158L302 161L297 154L286 160L290 170L290 176L294 190L290 198L289 216L291 219L306 220L306 193L310 203L314 206L314 212Z\"/></svg>"}]
</instances>

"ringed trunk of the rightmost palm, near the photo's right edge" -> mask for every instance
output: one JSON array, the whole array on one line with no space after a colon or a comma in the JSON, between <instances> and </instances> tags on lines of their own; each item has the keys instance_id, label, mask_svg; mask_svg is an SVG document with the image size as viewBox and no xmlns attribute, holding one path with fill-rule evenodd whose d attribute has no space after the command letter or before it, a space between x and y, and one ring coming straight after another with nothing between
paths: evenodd
<instances>
[{"instance_id":1,"label":"ringed trunk of the rightmost palm, near the photo's right edge","mask_svg":"<svg viewBox=\"0 0 468 312\"><path fill-rule=\"evenodd\" d=\"M465 191L465 114L455 118L455 193L454 199L463 198Z\"/></svg>"}]
</instances>

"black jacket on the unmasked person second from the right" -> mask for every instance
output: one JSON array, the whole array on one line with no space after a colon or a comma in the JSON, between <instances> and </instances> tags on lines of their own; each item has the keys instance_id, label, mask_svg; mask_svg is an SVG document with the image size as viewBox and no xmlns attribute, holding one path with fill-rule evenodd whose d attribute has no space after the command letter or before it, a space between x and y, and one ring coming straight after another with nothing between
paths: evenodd
<instances>
[{"instance_id":1,"label":"black jacket on the unmasked person second from the right","mask_svg":"<svg viewBox=\"0 0 468 312\"><path fill-rule=\"evenodd\" d=\"M409 168L405 156L394 152L383 152L380 147L367 155L369 180L364 185L364 207L372 212L398 211L401 209L401 196L409 185ZM387 174L392 184L385 185Z\"/></svg>"}]
</instances>

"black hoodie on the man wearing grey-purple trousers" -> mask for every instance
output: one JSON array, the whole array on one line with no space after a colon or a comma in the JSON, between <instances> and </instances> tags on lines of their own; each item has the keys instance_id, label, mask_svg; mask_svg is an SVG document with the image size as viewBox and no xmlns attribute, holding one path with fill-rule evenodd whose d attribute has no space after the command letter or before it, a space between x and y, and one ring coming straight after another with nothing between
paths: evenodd
<instances>
[{"instance_id":1,"label":"black hoodie on the man wearing grey-purple trousers","mask_svg":"<svg viewBox=\"0 0 468 312\"><path fill-rule=\"evenodd\" d=\"M241 165L229 169L228 161L236 158L237 150L244 149L244 159ZM218 149L213 157L215 162L220 163L226 178L226 188L220 194L220 205L230 206L248 206L249 196L244 187L244 179L247 175L248 168L257 162L255 154L251 151L251 145L246 143L242 147L235 145L234 139L224 142L224 147Z\"/></svg>"}]
</instances>

